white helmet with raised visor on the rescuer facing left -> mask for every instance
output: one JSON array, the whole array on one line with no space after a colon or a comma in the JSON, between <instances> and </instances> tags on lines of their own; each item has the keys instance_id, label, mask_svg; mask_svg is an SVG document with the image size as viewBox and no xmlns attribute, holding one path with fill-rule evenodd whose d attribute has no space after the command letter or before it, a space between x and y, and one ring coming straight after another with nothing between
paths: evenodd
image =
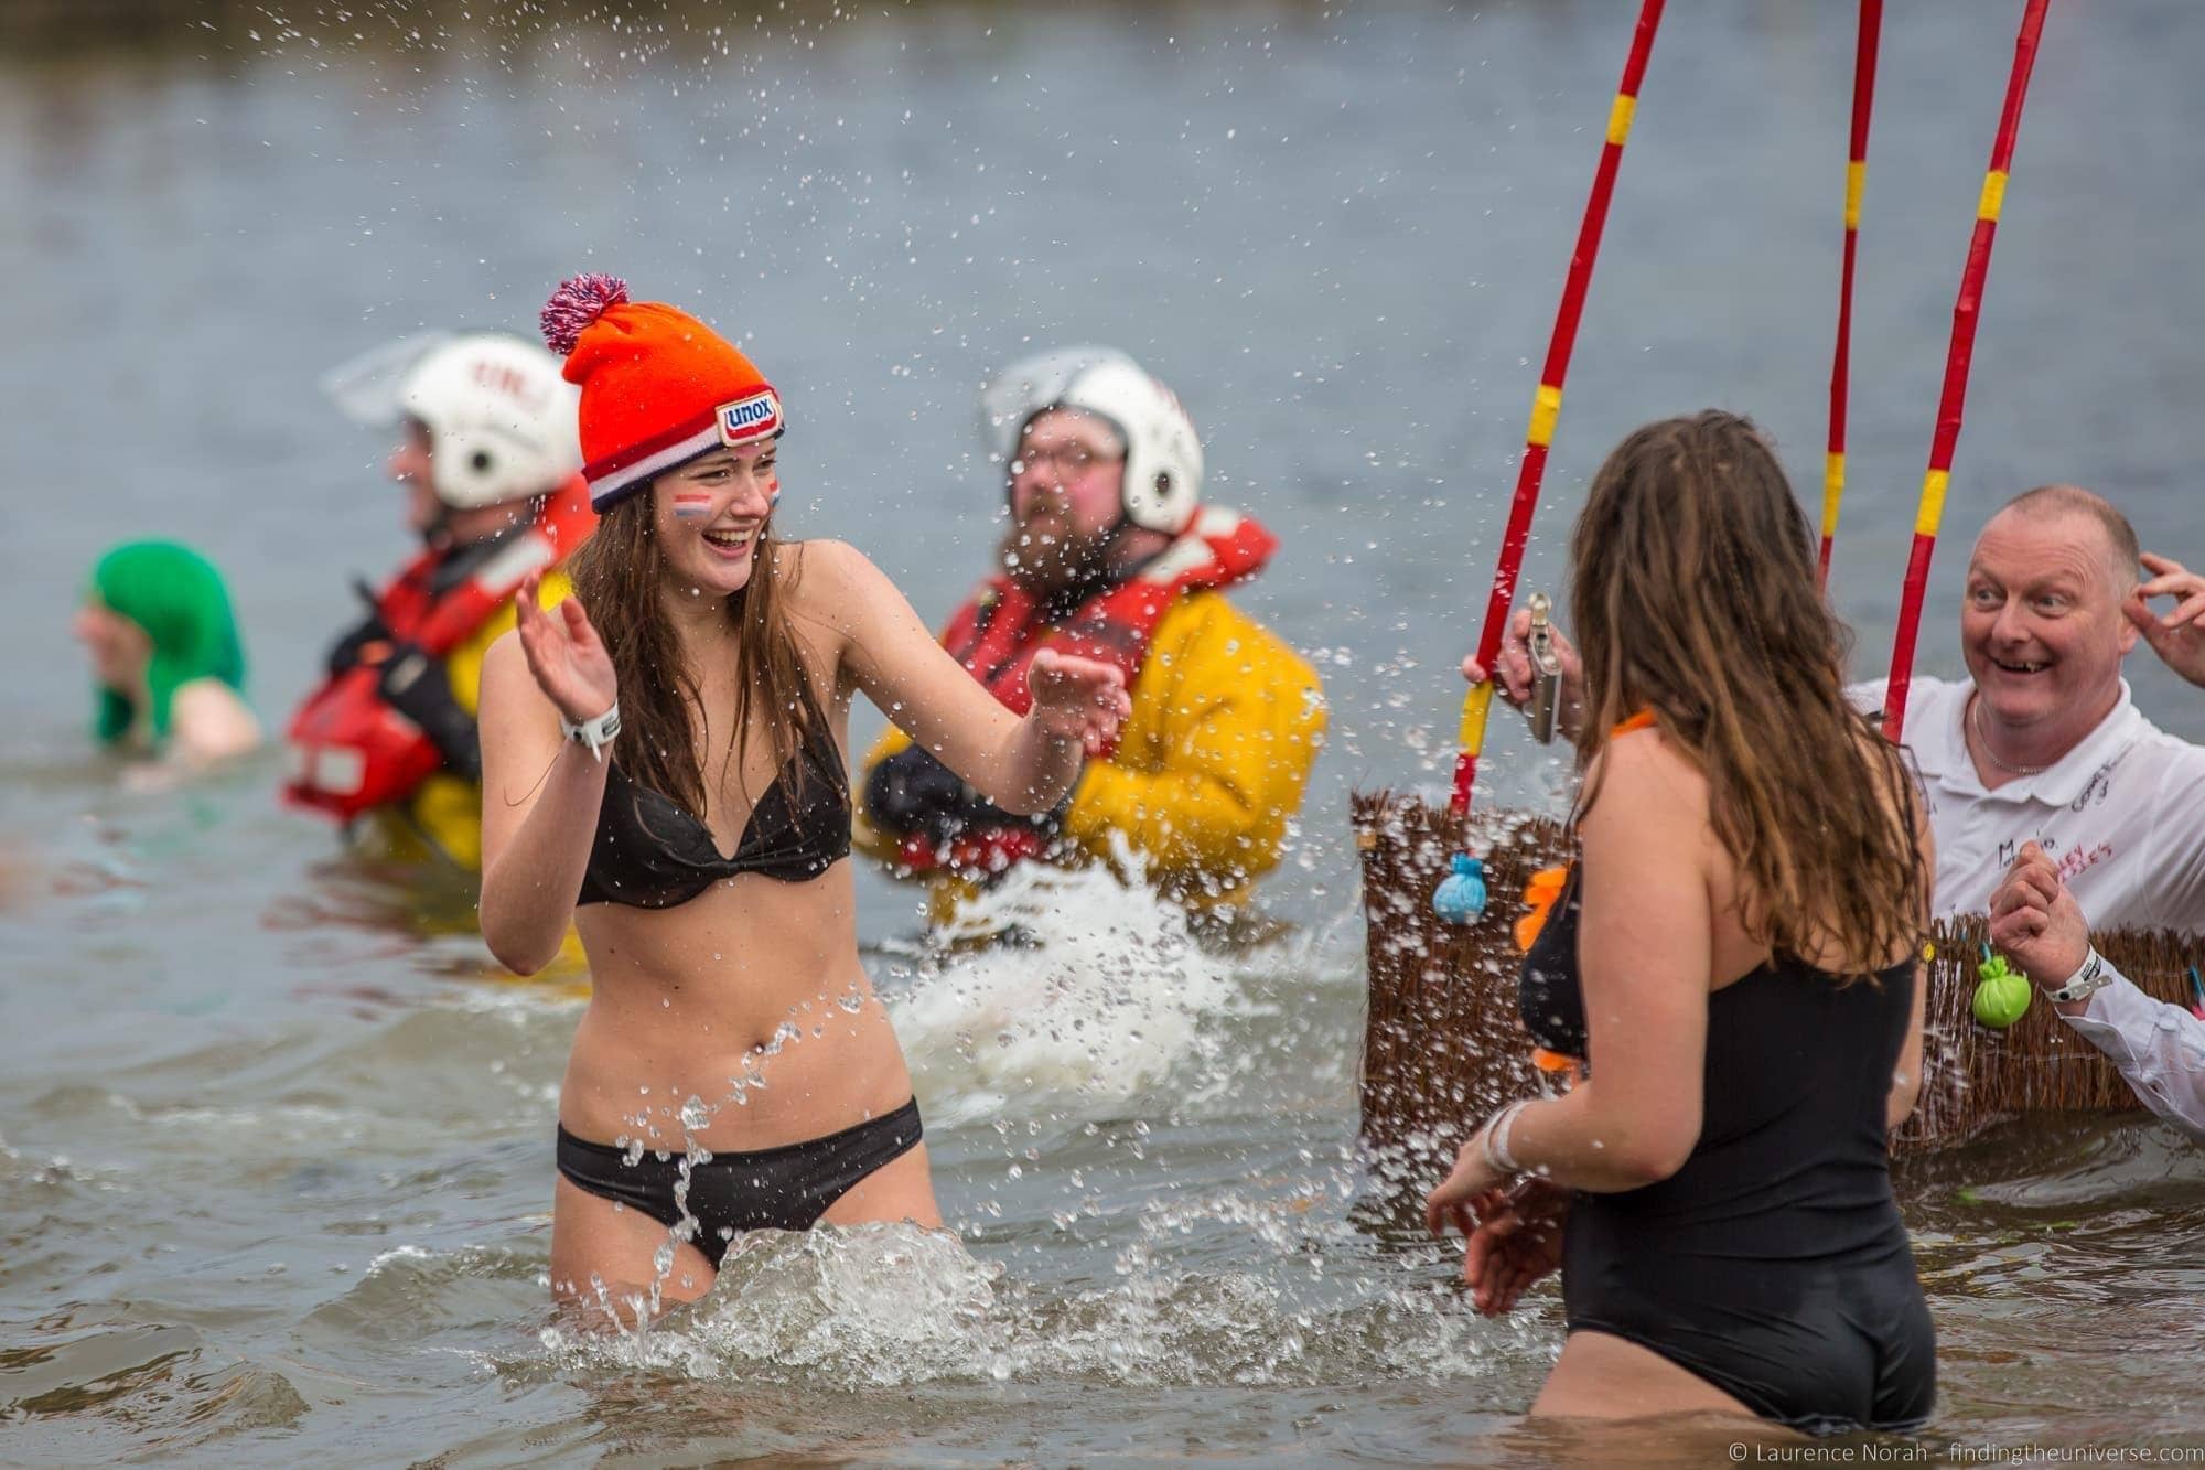
<instances>
[{"instance_id":1,"label":"white helmet with raised visor on the rescuer facing left","mask_svg":"<svg viewBox=\"0 0 2205 1470\"><path fill-rule=\"evenodd\" d=\"M582 468L582 391L560 360L505 333L430 333L381 347L322 380L357 422L419 419L437 499L452 510L556 490Z\"/></svg>"}]
</instances>

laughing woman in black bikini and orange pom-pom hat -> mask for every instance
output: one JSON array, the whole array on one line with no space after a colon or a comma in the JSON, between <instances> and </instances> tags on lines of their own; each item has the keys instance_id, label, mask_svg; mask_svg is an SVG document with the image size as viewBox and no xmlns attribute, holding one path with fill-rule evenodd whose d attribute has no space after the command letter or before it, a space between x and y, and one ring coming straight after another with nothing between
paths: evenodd
<instances>
[{"instance_id":1,"label":"laughing woman in black bikini and orange pom-pom hat","mask_svg":"<svg viewBox=\"0 0 2205 1470\"><path fill-rule=\"evenodd\" d=\"M591 962L553 1291L692 1300L743 1229L942 1223L858 962L853 693L1012 812L1054 808L1127 697L1052 658L1021 720L860 552L774 536L781 397L703 322L584 276L545 335L602 523L576 598L525 587L483 664L483 936L529 973L571 916Z\"/></svg>"}]
</instances>

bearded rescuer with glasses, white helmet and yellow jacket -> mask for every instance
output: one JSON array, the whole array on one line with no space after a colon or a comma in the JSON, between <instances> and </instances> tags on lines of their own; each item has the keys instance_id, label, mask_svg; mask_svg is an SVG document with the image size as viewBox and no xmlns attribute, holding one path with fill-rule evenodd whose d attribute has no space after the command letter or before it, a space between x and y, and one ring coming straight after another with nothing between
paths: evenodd
<instances>
[{"instance_id":1,"label":"bearded rescuer with glasses, white helmet and yellow jacket","mask_svg":"<svg viewBox=\"0 0 2205 1470\"><path fill-rule=\"evenodd\" d=\"M1133 715L1041 819L988 806L891 726L864 761L860 850L933 881L937 918L959 885L1030 859L1111 861L1120 843L1188 907L1246 901L1279 863L1325 731L1316 671L1226 600L1277 539L1202 505L1193 422L1125 353L1019 362L981 413L1010 528L942 645L1012 711L1043 647L1114 662Z\"/></svg>"}]
</instances>

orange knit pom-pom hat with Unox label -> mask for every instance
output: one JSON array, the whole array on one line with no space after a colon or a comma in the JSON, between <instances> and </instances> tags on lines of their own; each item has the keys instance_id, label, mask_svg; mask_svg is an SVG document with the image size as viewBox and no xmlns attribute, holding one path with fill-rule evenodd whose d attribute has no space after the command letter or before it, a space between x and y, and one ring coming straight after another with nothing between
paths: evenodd
<instances>
[{"instance_id":1,"label":"orange knit pom-pom hat with Unox label","mask_svg":"<svg viewBox=\"0 0 2205 1470\"><path fill-rule=\"evenodd\" d=\"M631 302L624 280L562 280L540 322L582 386L582 475L598 510L706 450L781 433L781 395L750 358L688 311Z\"/></svg>"}]
</instances>

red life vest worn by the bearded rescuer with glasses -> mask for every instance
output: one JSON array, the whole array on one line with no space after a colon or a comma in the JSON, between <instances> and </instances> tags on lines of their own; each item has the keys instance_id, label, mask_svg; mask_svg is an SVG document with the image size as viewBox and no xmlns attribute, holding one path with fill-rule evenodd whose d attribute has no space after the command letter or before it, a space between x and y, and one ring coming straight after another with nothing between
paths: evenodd
<instances>
[{"instance_id":1,"label":"red life vest worn by the bearded rescuer with glasses","mask_svg":"<svg viewBox=\"0 0 2205 1470\"><path fill-rule=\"evenodd\" d=\"M1206 508L1195 523L1155 561L1116 587L1096 594L1056 625L1039 622L1034 598L1008 576L992 576L950 614L942 647L966 667L988 693L1014 715L1034 709L1025 675L1034 653L1056 649L1076 658L1116 664L1127 691L1140 678L1149 642L1180 598L1244 583L1270 561L1279 539L1237 510ZM1109 759L1111 750L1102 750ZM917 832L897 848L897 861L913 872L1003 872L1012 863L1041 856L1047 839L1034 828L1003 828L959 837L946 852Z\"/></svg>"}]
</instances>

